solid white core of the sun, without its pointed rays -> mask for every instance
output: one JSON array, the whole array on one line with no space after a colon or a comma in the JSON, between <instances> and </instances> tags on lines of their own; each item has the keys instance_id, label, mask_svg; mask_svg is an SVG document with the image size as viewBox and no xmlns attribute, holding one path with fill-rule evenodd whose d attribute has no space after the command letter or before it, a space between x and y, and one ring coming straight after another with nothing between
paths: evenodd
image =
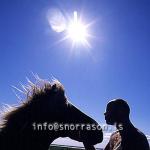
<instances>
[{"instance_id":1,"label":"solid white core of the sun, without its pointed rays","mask_svg":"<svg viewBox=\"0 0 150 150\"><path fill-rule=\"evenodd\" d=\"M67 38L72 39L73 44L82 43L89 46L87 37L87 25L78 20L77 11L74 11L74 18L70 21L67 28Z\"/></svg>"}]
</instances>

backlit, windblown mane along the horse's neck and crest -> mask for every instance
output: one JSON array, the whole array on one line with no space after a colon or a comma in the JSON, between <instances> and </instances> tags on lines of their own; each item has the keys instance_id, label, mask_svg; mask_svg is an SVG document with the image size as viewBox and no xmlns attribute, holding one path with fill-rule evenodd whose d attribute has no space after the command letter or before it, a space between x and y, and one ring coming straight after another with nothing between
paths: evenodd
<instances>
[{"instance_id":1,"label":"backlit, windblown mane along the horse's neck and crest","mask_svg":"<svg viewBox=\"0 0 150 150\"><path fill-rule=\"evenodd\" d=\"M56 79L50 82L38 78L35 83L28 80L27 86L22 85L23 91L16 87L15 89L25 94L25 100L21 100L20 104L16 106L6 105L4 107L4 111L1 113L0 129L12 124L12 120L17 120L19 115L20 117L24 115L24 112L28 111L27 108L32 107L34 109L34 106L41 101L43 102L43 99L56 94L58 96L64 96L65 93L63 85Z\"/></svg>"}]
</instances>

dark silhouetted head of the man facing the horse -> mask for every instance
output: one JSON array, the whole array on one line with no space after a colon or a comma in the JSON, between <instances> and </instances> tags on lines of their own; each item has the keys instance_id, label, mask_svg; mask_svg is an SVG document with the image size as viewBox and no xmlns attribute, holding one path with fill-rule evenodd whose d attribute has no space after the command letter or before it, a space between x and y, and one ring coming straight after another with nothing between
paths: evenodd
<instances>
[{"instance_id":1,"label":"dark silhouetted head of the man facing the horse","mask_svg":"<svg viewBox=\"0 0 150 150\"><path fill-rule=\"evenodd\" d=\"M111 100L106 107L105 120L107 124L123 123L129 120L130 107L123 99Z\"/></svg>"}]
</instances>

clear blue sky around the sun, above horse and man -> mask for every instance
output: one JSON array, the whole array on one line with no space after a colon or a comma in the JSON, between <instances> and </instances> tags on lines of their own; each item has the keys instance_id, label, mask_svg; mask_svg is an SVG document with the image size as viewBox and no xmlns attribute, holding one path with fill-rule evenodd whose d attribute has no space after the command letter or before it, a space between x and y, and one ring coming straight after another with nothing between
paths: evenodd
<instances>
[{"instance_id":1,"label":"clear blue sky around the sun, above horse and man","mask_svg":"<svg viewBox=\"0 0 150 150\"><path fill-rule=\"evenodd\" d=\"M46 18L51 8L65 16L76 10L86 22L91 48L71 41L57 43ZM131 119L150 134L150 1L149 0L1 0L0 102L17 102L11 85L26 83L31 72L59 79L71 102L100 123L113 98L131 106Z\"/></svg>"}]
</instances>

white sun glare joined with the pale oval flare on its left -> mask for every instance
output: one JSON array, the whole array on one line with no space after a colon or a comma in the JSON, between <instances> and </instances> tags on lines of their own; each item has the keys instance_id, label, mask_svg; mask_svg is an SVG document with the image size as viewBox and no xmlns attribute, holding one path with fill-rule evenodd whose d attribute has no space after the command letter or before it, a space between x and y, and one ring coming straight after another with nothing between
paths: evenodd
<instances>
[{"instance_id":1,"label":"white sun glare joined with the pale oval flare on its left","mask_svg":"<svg viewBox=\"0 0 150 150\"><path fill-rule=\"evenodd\" d=\"M65 32L65 36L56 43L71 40L72 48L80 44L91 48L88 42L88 38L92 37L88 32L91 23L87 24L83 22L83 16L78 16L77 11L73 12L72 17L70 15L68 16L69 18L66 19L63 13L58 9L50 9L48 11L47 18L51 29L58 33Z\"/></svg>"}]
</instances>

